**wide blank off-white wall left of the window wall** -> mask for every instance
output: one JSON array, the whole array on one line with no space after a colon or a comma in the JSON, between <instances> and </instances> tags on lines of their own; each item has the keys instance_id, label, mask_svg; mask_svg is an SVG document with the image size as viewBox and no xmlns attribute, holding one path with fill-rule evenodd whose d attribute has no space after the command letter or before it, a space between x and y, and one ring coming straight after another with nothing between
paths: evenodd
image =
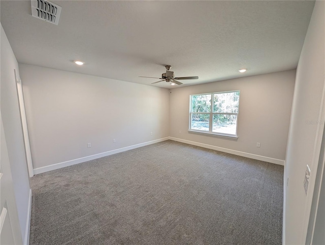
<instances>
[{"instance_id":1,"label":"wide blank off-white wall left of the window wall","mask_svg":"<svg viewBox=\"0 0 325 245\"><path fill-rule=\"evenodd\" d=\"M168 89L25 64L19 69L34 169L169 136Z\"/></svg>"}]
</instances>

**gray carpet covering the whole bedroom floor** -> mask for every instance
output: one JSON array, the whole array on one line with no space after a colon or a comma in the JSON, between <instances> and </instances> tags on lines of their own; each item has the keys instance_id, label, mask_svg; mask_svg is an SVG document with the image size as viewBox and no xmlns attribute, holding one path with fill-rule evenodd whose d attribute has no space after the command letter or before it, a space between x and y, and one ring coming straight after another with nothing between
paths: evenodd
<instances>
[{"instance_id":1,"label":"gray carpet covering the whole bedroom floor","mask_svg":"<svg viewBox=\"0 0 325 245\"><path fill-rule=\"evenodd\" d=\"M29 244L281 244L283 166L171 140L31 188Z\"/></svg>"}]
</instances>

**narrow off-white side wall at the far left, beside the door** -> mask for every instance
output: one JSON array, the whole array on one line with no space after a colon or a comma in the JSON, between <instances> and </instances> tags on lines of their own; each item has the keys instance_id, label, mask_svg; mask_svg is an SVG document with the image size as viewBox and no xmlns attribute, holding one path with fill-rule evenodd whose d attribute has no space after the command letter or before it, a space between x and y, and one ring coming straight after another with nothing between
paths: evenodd
<instances>
[{"instance_id":1,"label":"narrow off-white side wall at the far left, beside the door","mask_svg":"<svg viewBox=\"0 0 325 245\"><path fill-rule=\"evenodd\" d=\"M7 142L20 230L25 239L30 188L14 69L19 75L16 57L1 25L1 115L5 131L1 137Z\"/></svg>"}]
</instances>

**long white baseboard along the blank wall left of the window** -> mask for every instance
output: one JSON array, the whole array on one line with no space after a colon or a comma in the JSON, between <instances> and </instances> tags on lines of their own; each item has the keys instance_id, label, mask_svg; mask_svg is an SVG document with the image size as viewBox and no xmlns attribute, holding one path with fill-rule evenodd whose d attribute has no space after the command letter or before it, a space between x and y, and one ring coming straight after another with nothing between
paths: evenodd
<instances>
[{"instance_id":1,"label":"long white baseboard along the blank wall left of the window","mask_svg":"<svg viewBox=\"0 0 325 245\"><path fill-rule=\"evenodd\" d=\"M71 165L87 162L87 161L90 161L90 160L103 158L103 157L106 157L106 156L117 154L119 152L123 152L123 151L126 151L126 150L131 150L131 149L139 148L139 147L142 147L142 146L158 143L158 142L165 141L165 140L168 140L168 139L169 139L169 137L156 139L156 140L147 141L147 142L140 143L140 144L126 146L126 147L115 149L115 150L109 150L109 151L106 151L106 152L102 152L102 153L99 153L99 154L95 154L95 155L91 155L91 156L87 156L87 157L83 157L83 158L78 158L78 159L74 159L74 160L70 160L70 161L66 161L66 162L62 162L62 163L56 163L56 164L52 164L52 165L41 167L41 168L35 168L34 169L34 174L40 174L40 173L48 172L48 171L51 171L51 170L55 170L55 169L64 168L64 167L68 167L68 166L71 166Z\"/></svg>"}]
</instances>

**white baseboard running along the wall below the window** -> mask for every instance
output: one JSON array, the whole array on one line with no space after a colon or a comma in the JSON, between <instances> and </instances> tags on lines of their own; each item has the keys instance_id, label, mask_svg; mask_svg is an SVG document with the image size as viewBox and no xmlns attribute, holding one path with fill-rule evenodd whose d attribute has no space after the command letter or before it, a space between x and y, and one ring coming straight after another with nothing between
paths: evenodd
<instances>
[{"instance_id":1,"label":"white baseboard running along the wall below the window","mask_svg":"<svg viewBox=\"0 0 325 245\"><path fill-rule=\"evenodd\" d=\"M251 154L251 153L247 153L247 152L243 152L243 151L227 149L227 148L223 148L223 147L219 147L219 146L208 145L208 144L204 144L204 143L199 143L199 142L194 142L194 141L179 139L179 138L174 138L174 137L169 137L169 139L178 141L178 142L182 142L185 144L196 145L196 146L200 146L200 147L204 147L204 148L208 148L208 149L212 149L212 150L218 150L218 151L234 154L234 155L241 156L241 157L251 158L251 159L255 159L255 160L260 160L260 161L274 163L274 164L284 166L284 160L280 160L280 159L259 156L259 155L255 155L255 154Z\"/></svg>"}]
</instances>

